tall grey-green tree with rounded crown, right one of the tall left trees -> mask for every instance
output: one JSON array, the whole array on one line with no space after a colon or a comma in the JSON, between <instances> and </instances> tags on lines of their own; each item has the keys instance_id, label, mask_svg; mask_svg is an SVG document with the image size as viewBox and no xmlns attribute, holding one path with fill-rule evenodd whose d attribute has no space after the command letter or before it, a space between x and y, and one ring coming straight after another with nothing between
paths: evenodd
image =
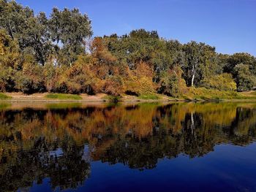
<instances>
[{"instance_id":1,"label":"tall grey-green tree with rounded crown, right one of the tall left trees","mask_svg":"<svg viewBox=\"0 0 256 192\"><path fill-rule=\"evenodd\" d=\"M53 8L49 20L50 37L58 45L61 42L61 57L71 66L78 55L85 53L86 38L91 37L91 20L79 9L63 11Z\"/></svg>"}]
</instances>

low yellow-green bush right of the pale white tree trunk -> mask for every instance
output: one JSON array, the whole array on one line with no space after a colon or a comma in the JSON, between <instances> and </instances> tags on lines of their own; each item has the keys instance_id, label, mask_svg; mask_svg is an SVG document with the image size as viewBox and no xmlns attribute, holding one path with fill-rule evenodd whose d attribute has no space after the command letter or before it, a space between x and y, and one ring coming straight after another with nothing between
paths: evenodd
<instances>
[{"instance_id":1,"label":"low yellow-green bush right of the pale white tree trunk","mask_svg":"<svg viewBox=\"0 0 256 192\"><path fill-rule=\"evenodd\" d=\"M236 82L231 74L219 74L203 80L202 86L208 89L217 89L219 91L236 91Z\"/></svg>"}]
</instances>

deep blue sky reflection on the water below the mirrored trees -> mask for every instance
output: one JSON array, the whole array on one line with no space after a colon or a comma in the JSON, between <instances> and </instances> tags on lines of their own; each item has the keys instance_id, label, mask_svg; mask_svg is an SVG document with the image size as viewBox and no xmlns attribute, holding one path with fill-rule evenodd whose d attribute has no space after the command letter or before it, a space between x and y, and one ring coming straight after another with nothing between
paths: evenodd
<instances>
[{"instance_id":1,"label":"deep blue sky reflection on the water below the mirrored trees","mask_svg":"<svg viewBox=\"0 0 256 192\"><path fill-rule=\"evenodd\" d=\"M143 172L94 161L91 176L75 191L255 191L255 158L253 143L247 147L217 145L214 152L200 158L164 158L155 169ZM34 183L30 191L50 191L50 180Z\"/></svg>"}]
</instances>

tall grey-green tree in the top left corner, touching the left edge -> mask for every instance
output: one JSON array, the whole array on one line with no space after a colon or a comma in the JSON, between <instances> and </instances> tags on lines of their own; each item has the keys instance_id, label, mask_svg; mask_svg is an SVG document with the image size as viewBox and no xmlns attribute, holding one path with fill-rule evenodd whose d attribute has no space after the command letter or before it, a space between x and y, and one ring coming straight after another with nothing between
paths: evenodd
<instances>
[{"instance_id":1,"label":"tall grey-green tree in the top left corner, touching the left edge","mask_svg":"<svg viewBox=\"0 0 256 192\"><path fill-rule=\"evenodd\" d=\"M0 4L0 27L18 40L22 52L33 54L35 60L44 65L53 48L45 13L35 17L33 10L15 1L0 0Z\"/></svg>"}]
</instances>

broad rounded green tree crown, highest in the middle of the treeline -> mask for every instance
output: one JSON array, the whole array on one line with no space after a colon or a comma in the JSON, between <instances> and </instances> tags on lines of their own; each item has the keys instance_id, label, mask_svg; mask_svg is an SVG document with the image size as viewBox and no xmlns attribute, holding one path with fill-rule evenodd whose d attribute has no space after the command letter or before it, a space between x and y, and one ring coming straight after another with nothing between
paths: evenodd
<instances>
[{"instance_id":1,"label":"broad rounded green tree crown, highest in the middle of the treeline","mask_svg":"<svg viewBox=\"0 0 256 192\"><path fill-rule=\"evenodd\" d=\"M157 31L139 29L121 37L113 34L104 37L104 40L110 53L113 53L119 61L124 60L129 69L135 69L136 64L141 62L154 65L152 59L157 56L157 51L162 50L159 49L160 40Z\"/></svg>"}]
</instances>

